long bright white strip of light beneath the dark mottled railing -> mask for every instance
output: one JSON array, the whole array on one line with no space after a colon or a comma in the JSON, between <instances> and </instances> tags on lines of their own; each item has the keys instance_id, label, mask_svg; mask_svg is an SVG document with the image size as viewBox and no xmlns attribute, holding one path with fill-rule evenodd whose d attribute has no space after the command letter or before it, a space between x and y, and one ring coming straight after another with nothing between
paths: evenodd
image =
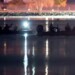
<instances>
[{"instance_id":1,"label":"long bright white strip of light beneath the dark mottled railing","mask_svg":"<svg viewBox=\"0 0 75 75\"><path fill-rule=\"evenodd\" d=\"M55 15L50 15L50 16L6 16L6 18L54 18L54 19L75 19L75 16L74 15L58 15L58 16L55 16ZM4 18L4 16L1 16L0 18Z\"/></svg>"}]
</instances>

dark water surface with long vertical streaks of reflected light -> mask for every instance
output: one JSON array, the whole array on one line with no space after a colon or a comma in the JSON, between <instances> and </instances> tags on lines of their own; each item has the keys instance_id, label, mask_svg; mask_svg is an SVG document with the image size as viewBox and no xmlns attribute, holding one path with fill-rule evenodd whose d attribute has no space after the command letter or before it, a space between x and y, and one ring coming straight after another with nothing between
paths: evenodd
<instances>
[{"instance_id":1,"label":"dark water surface with long vertical streaks of reflected light","mask_svg":"<svg viewBox=\"0 0 75 75\"><path fill-rule=\"evenodd\" d=\"M74 75L75 36L0 35L0 55L24 55L0 64L0 75Z\"/></svg>"}]
</instances>

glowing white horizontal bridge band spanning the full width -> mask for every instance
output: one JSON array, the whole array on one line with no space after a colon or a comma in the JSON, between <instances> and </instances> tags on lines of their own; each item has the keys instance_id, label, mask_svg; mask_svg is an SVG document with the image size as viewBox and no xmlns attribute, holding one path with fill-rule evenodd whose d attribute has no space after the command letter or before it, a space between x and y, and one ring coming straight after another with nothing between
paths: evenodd
<instances>
[{"instance_id":1,"label":"glowing white horizontal bridge band spanning the full width","mask_svg":"<svg viewBox=\"0 0 75 75\"><path fill-rule=\"evenodd\" d=\"M0 16L0 18L9 18L9 19L11 19L11 18L16 18L16 19L18 19L18 18L27 18L28 20L29 19L62 19L62 18L64 18L64 19L75 19L75 16L74 15L71 15L71 16L69 16L69 15L62 15L62 16Z\"/></svg>"}]
</instances>

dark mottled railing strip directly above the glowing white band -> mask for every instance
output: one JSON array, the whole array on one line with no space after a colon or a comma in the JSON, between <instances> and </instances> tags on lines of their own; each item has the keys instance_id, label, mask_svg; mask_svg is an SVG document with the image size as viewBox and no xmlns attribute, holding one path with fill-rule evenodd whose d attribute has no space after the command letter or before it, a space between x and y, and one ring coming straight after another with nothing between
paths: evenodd
<instances>
[{"instance_id":1,"label":"dark mottled railing strip directly above the glowing white band","mask_svg":"<svg viewBox=\"0 0 75 75\"><path fill-rule=\"evenodd\" d=\"M75 12L49 12L49 13L34 13L34 12L0 12L0 16L75 16Z\"/></svg>"}]
</instances>

